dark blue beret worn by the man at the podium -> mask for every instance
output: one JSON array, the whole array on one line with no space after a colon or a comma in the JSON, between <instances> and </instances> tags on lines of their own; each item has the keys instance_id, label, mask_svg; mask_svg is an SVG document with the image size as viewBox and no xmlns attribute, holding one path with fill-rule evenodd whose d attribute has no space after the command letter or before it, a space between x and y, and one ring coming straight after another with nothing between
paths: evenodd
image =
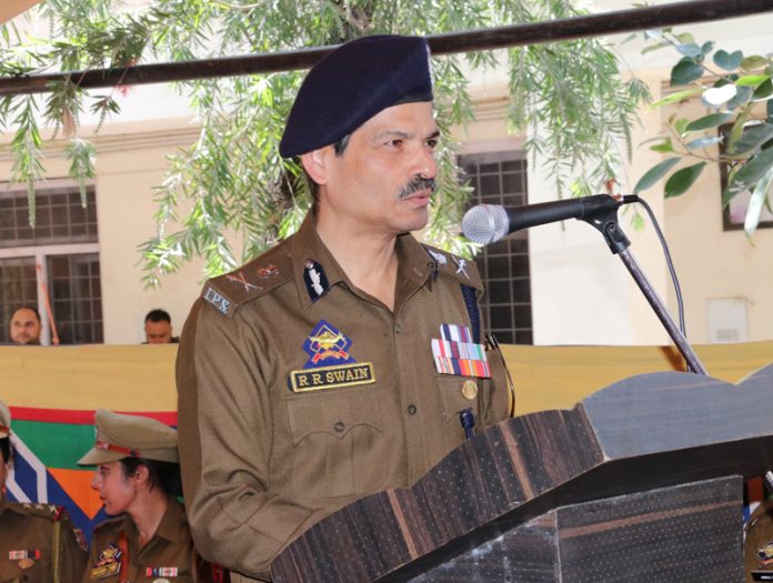
<instances>
[{"instance_id":1,"label":"dark blue beret worn by the man at the podium","mask_svg":"<svg viewBox=\"0 0 773 583\"><path fill-rule=\"evenodd\" d=\"M431 101L426 40L373 36L342 44L301 84L279 143L283 158L339 141L398 103Z\"/></svg>"}]
</instances>

